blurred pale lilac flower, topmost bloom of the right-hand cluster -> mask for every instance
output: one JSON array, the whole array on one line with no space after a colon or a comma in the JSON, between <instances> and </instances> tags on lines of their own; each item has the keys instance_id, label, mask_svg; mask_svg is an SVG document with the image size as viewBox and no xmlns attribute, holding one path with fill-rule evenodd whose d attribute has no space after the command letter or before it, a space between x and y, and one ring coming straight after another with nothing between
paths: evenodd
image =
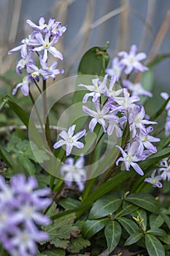
<instances>
[{"instance_id":1,"label":"blurred pale lilac flower, topmost bloom of the right-hand cluster","mask_svg":"<svg viewBox=\"0 0 170 256\"><path fill-rule=\"evenodd\" d=\"M148 70L147 67L142 65L140 61L147 58L146 53L137 53L137 47L136 45L131 45L131 50L129 53L125 51L120 51L117 53L118 56L121 57L120 59L120 65L123 65L125 67L125 74L128 75L132 72L134 69L136 72L144 72L145 70Z\"/></svg>"}]
</instances>

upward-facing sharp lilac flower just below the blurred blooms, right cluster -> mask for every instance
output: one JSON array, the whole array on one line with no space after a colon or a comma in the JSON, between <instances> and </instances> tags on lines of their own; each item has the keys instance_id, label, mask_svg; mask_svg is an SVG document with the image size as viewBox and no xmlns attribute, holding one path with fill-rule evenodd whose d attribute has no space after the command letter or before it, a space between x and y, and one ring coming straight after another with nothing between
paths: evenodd
<instances>
[{"instance_id":1,"label":"upward-facing sharp lilac flower just below the blurred blooms, right cluster","mask_svg":"<svg viewBox=\"0 0 170 256\"><path fill-rule=\"evenodd\" d=\"M134 102L138 102L140 98L138 96L130 96L127 89L123 89L123 97L114 97L115 102L122 107L123 111L130 112L134 108Z\"/></svg>"}]
</instances>

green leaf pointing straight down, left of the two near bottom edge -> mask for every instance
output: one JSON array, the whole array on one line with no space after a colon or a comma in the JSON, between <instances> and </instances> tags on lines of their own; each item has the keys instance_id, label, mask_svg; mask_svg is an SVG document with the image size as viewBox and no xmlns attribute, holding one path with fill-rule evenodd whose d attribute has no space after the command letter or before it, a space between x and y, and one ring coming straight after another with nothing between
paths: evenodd
<instances>
[{"instance_id":1,"label":"green leaf pointing straight down, left of the two near bottom edge","mask_svg":"<svg viewBox=\"0 0 170 256\"><path fill-rule=\"evenodd\" d=\"M120 241L120 237L122 235L122 228L120 224L116 221L110 220L104 229L104 235L107 239L107 248L110 253L115 249Z\"/></svg>"}]
</instances>

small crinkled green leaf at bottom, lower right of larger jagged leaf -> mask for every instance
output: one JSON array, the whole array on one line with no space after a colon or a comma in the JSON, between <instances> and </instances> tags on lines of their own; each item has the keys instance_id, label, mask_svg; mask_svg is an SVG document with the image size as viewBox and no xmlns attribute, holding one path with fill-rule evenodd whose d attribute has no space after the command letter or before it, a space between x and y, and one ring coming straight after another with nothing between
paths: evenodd
<instances>
[{"instance_id":1,"label":"small crinkled green leaf at bottom, lower right of larger jagged leaf","mask_svg":"<svg viewBox=\"0 0 170 256\"><path fill-rule=\"evenodd\" d=\"M80 252L81 249L90 246L90 241L79 236L78 238L74 238L69 244L69 252L77 253Z\"/></svg>"}]
</instances>

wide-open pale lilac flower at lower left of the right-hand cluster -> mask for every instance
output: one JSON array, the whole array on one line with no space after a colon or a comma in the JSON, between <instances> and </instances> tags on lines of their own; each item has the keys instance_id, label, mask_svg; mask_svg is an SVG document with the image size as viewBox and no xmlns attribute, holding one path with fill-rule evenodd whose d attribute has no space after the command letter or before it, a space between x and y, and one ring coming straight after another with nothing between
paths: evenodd
<instances>
[{"instance_id":1,"label":"wide-open pale lilac flower at lower left of the right-hand cluster","mask_svg":"<svg viewBox=\"0 0 170 256\"><path fill-rule=\"evenodd\" d=\"M87 113L89 116L93 117L93 119L89 123L89 130L90 132L93 132L94 128L96 127L96 124L98 123L101 124L101 126L104 129L104 132L107 132L105 119L117 121L118 117L114 114L109 113L109 104L105 104L102 108L100 108L100 104L98 102L94 102L94 105L97 112L91 110L90 108L88 108L88 106L82 106L83 111Z\"/></svg>"}]
</instances>

